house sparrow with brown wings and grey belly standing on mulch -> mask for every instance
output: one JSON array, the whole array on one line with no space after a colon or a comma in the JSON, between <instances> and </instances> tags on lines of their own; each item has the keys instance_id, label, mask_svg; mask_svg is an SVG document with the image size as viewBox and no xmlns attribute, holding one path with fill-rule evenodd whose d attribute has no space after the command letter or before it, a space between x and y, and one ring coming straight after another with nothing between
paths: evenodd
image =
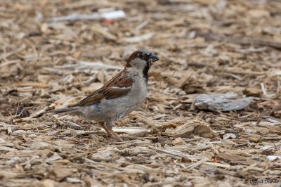
<instances>
[{"instance_id":1,"label":"house sparrow with brown wings and grey belly standing on mulch","mask_svg":"<svg viewBox=\"0 0 281 187\"><path fill-rule=\"evenodd\" d=\"M159 58L151 51L135 51L126 61L124 70L103 87L77 105L48 112L67 112L81 115L87 120L95 120L115 141L122 141L122 138L112 131L112 123L129 114L144 101L148 92L148 70L157 60Z\"/></svg>"}]
</instances>

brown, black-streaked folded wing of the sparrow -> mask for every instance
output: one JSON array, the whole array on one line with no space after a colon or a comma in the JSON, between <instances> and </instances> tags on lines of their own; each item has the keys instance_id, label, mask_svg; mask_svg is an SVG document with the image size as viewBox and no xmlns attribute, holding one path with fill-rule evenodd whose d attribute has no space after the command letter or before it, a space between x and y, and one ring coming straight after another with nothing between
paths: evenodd
<instances>
[{"instance_id":1,"label":"brown, black-streaked folded wing of the sparrow","mask_svg":"<svg viewBox=\"0 0 281 187\"><path fill-rule=\"evenodd\" d=\"M126 95L126 93L129 93L133 81L126 77L125 71L126 70L119 72L119 74L113 77L109 82L105 83L102 88L91 93L77 105L93 105L100 103L102 99L118 98Z\"/></svg>"}]
</instances>

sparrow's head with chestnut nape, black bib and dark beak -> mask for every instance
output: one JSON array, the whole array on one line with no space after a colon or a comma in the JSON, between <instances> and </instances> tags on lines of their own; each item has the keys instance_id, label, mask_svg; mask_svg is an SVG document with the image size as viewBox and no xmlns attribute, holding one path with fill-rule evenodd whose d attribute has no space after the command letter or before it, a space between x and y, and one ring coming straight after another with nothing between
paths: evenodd
<instances>
[{"instance_id":1,"label":"sparrow's head with chestnut nape, black bib and dark beak","mask_svg":"<svg viewBox=\"0 0 281 187\"><path fill-rule=\"evenodd\" d=\"M158 56L152 51L139 49L131 54L127 60L126 67L135 67L143 72L145 78L148 77L148 70L152 63L159 60Z\"/></svg>"}]
</instances>

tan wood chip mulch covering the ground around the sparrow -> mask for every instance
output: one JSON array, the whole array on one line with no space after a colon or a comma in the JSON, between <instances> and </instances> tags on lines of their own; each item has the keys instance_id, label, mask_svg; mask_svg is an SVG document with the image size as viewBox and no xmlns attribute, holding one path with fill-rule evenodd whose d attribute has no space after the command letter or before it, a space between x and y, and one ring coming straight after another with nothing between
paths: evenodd
<instances>
[{"instance_id":1,"label":"tan wood chip mulch covering the ground around the sparrow","mask_svg":"<svg viewBox=\"0 0 281 187\"><path fill-rule=\"evenodd\" d=\"M278 0L1 1L0 186L277 186ZM124 11L124 18L57 21ZM108 15L108 14L107 14ZM160 60L141 108L114 130L44 115L115 75L132 51ZM199 94L251 97L202 110Z\"/></svg>"}]
</instances>

